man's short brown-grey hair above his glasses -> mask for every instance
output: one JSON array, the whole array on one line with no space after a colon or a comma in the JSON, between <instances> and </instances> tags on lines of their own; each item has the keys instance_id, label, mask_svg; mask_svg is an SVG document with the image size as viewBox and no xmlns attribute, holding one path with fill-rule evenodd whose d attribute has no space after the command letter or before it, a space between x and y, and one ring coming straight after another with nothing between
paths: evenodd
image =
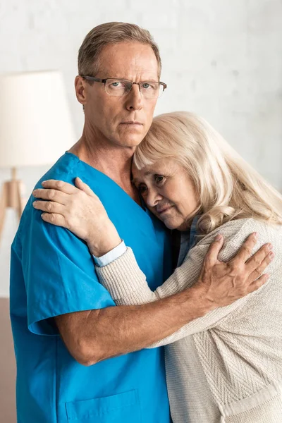
<instances>
[{"instance_id":1,"label":"man's short brown-grey hair above his glasses","mask_svg":"<svg viewBox=\"0 0 282 423\"><path fill-rule=\"evenodd\" d=\"M158 62L160 77L161 56L152 35L138 25L123 22L102 23L86 35L78 51L78 74L95 76L99 71L99 53L103 47L119 42L140 42L151 46Z\"/></svg>"}]
</instances>

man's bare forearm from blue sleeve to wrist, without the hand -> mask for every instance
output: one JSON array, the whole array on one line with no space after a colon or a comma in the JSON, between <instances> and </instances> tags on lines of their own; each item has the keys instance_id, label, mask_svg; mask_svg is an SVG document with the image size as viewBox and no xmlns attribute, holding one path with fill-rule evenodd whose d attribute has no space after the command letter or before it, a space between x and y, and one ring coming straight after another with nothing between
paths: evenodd
<instances>
[{"instance_id":1,"label":"man's bare forearm from blue sleeve to wrist, without the hand","mask_svg":"<svg viewBox=\"0 0 282 423\"><path fill-rule=\"evenodd\" d=\"M209 312L212 305L199 291L190 288L145 305L62 314L55 321L69 353L90 366L141 350Z\"/></svg>"}]
</instances>

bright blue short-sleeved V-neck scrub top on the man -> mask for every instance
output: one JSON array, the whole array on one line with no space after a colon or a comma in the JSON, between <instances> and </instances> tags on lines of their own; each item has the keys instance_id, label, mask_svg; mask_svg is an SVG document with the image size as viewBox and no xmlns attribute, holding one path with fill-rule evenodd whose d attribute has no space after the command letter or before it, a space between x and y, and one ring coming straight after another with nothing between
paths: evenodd
<instances>
[{"instance_id":1,"label":"bright blue short-sleeved V-neck scrub top on the man","mask_svg":"<svg viewBox=\"0 0 282 423\"><path fill-rule=\"evenodd\" d=\"M171 272L166 230L113 180L66 153L37 183L79 176L102 200L152 290ZM11 250L11 323L17 361L18 423L171 422L164 350L155 348L82 366L50 317L114 306L87 245L25 207Z\"/></svg>"}]
</instances>

